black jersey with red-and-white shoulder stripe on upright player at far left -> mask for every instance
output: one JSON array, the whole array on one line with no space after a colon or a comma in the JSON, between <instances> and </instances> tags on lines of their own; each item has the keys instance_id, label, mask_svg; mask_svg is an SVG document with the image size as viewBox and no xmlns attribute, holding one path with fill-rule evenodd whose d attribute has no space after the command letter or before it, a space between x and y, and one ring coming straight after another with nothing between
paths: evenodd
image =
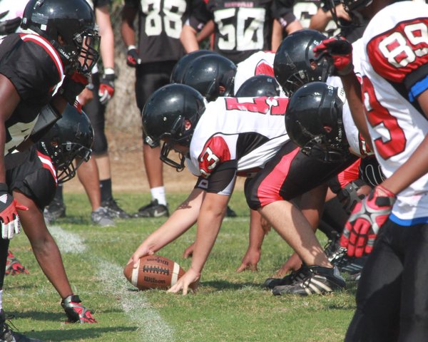
<instances>
[{"instance_id":1,"label":"black jersey with red-and-white shoulder stripe on upright player at far left","mask_svg":"<svg viewBox=\"0 0 428 342\"><path fill-rule=\"evenodd\" d=\"M0 73L9 78L21 98L6 121L6 155L29 137L39 111L63 78L63 63L41 36L12 33L0 44Z\"/></svg>"}]
</instances>

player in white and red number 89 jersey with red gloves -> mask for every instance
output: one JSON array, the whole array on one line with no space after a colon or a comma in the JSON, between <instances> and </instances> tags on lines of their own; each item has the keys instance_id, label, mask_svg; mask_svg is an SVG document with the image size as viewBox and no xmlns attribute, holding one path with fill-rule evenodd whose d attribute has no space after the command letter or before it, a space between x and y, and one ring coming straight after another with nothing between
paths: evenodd
<instances>
[{"instance_id":1,"label":"player in white and red number 89 jersey with red gloves","mask_svg":"<svg viewBox=\"0 0 428 342\"><path fill-rule=\"evenodd\" d=\"M348 254L370 253L345 341L428 335L428 5L392 2L344 1L347 11L371 19L362 36L362 88L347 41L324 41L316 50L334 61L355 123L387 176L357 204L342 236Z\"/></svg>"}]
</instances>

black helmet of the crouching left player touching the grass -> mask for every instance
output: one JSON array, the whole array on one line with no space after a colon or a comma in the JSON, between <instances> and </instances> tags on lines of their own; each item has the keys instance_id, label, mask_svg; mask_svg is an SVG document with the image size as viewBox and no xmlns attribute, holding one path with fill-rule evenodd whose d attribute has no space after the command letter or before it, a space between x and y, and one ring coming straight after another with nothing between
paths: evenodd
<instances>
[{"instance_id":1,"label":"black helmet of the crouching left player touching the grass","mask_svg":"<svg viewBox=\"0 0 428 342\"><path fill-rule=\"evenodd\" d=\"M88 116L67 103L62 117L37 142L37 148L51 157L58 183L63 183L76 175L83 161L89 160L92 143L93 128Z\"/></svg>"}]
</instances>

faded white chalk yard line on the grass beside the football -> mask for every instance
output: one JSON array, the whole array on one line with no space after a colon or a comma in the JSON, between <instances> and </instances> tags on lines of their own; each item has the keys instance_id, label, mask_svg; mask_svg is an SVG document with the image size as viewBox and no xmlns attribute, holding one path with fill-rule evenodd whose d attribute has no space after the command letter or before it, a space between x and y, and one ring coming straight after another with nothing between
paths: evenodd
<instances>
[{"instance_id":1,"label":"faded white chalk yard line on the grass beside the football","mask_svg":"<svg viewBox=\"0 0 428 342\"><path fill-rule=\"evenodd\" d=\"M84 239L78 234L67 232L57 225L50 226L49 231L62 253L81 254L86 250ZM93 258L93 262L96 263L95 268L98 269L106 295L114 298L121 296L123 312L138 327L136 341L175 341L173 328L151 307L143 292L129 291L132 286L123 276L122 266L101 258Z\"/></svg>"}]
</instances>

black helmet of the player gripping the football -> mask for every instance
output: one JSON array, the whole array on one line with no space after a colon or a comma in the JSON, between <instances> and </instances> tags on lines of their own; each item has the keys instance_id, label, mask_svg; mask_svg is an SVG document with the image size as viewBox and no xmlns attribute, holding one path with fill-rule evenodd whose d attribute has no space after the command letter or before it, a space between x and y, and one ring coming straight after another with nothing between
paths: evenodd
<instances>
[{"instance_id":1,"label":"black helmet of the player gripping the football","mask_svg":"<svg viewBox=\"0 0 428 342\"><path fill-rule=\"evenodd\" d=\"M185 155L179 154L180 162L168 157L174 144L190 146L193 131L205 110L205 100L197 90L184 84L172 83L156 90L143 108L143 130L146 142L156 147L162 139L161 160L184 169Z\"/></svg>"}]
</instances>

